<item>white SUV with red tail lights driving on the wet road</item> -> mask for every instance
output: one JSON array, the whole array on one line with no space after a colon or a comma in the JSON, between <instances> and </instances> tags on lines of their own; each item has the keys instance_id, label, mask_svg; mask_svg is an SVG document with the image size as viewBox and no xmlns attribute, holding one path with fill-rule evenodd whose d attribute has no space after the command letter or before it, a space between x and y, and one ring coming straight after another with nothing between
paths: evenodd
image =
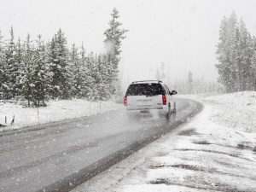
<instances>
[{"instance_id":1,"label":"white SUV with red tail lights driving on the wet road","mask_svg":"<svg viewBox=\"0 0 256 192\"><path fill-rule=\"evenodd\" d=\"M176 103L172 95L177 91L168 89L158 80L132 82L125 94L124 105L127 110L139 110L148 113L158 110L165 113L176 113Z\"/></svg>"}]
</instances>

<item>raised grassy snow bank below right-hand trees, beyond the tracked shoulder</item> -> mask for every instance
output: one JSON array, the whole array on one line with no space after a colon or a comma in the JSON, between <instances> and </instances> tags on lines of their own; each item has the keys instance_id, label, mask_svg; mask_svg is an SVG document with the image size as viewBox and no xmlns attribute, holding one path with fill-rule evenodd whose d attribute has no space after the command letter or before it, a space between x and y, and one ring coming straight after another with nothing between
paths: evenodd
<instances>
[{"instance_id":1,"label":"raised grassy snow bank below right-hand trees, beyond the tracked shoulder","mask_svg":"<svg viewBox=\"0 0 256 192\"><path fill-rule=\"evenodd\" d=\"M214 108L212 118L237 131L256 132L256 91L210 96L201 102Z\"/></svg>"}]
</instances>

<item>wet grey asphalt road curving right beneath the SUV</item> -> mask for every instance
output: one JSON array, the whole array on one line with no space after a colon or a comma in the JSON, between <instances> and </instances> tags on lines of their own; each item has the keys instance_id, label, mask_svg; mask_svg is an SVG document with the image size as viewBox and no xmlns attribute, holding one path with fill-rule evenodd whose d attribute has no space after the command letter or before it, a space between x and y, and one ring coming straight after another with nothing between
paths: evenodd
<instances>
[{"instance_id":1,"label":"wet grey asphalt road curving right beneath the SUV","mask_svg":"<svg viewBox=\"0 0 256 192\"><path fill-rule=\"evenodd\" d=\"M201 111L177 99L177 114L125 109L0 135L0 191L69 191Z\"/></svg>"}]
</instances>

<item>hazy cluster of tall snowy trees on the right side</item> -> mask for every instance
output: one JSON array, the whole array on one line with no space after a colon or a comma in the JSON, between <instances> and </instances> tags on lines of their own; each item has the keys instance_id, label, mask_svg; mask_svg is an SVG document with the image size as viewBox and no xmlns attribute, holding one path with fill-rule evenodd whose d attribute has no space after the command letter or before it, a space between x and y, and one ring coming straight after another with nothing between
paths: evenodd
<instances>
[{"instance_id":1,"label":"hazy cluster of tall snowy trees on the right side","mask_svg":"<svg viewBox=\"0 0 256 192\"><path fill-rule=\"evenodd\" d=\"M235 12L221 21L217 47L218 80L226 91L256 90L256 38Z\"/></svg>"}]
</instances>

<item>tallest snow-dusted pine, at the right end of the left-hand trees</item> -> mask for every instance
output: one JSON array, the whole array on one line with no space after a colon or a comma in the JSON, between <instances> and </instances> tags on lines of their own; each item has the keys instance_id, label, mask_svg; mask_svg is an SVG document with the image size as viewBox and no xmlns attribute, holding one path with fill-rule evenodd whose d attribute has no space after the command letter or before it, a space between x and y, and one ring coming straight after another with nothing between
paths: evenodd
<instances>
[{"instance_id":1,"label":"tallest snow-dusted pine, at the right end of the left-hand trees","mask_svg":"<svg viewBox=\"0 0 256 192\"><path fill-rule=\"evenodd\" d=\"M120 53L121 53L121 42L125 39L125 32L128 30L120 29L122 25L119 21L119 11L117 9L113 9L111 13L112 20L109 21L109 27L104 32L106 39L104 40L105 47L107 49L108 54L108 62L113 66L113 95L121 94L120 84L118 79L118 67L120 61ZM121 97L121 95L119 96Z\"/></svg>"}]
</instances>

